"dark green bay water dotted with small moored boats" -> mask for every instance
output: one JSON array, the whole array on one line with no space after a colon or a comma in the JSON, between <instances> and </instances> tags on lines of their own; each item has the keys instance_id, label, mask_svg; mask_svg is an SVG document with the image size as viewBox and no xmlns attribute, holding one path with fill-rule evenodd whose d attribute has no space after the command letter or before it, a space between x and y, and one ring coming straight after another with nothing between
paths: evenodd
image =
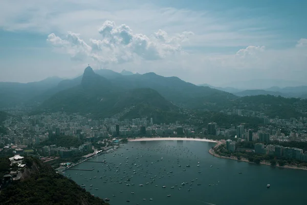
<instances>
[{"instance_id":1,"label":"dark green bay water dotted with small moored boats","mask_svg":"<svg viewBox=\"0 0 307 205\"><path fill-rule=\"evenodd\" d=\"M86 185L85 189L95 196L110 198L109 203L113 205L307 204L307 171L272 168L216 158L208 153L212 146L214 146L212 142L201 141L128 142L121 145L116 152L91 159L91 161L105 159L108 162L106 164L83 162L74 167L76 169L94 167L94 171L66 170L65 175L70 174L79 185ZM184 169L186 171L183 171ZM154 177L155 175L157 177ZM95 176L97 178L94 178ZM100 176L105 177L99 178ZM126 181L128 178L130 181ZM180 187L182 182L188 184ZM127 183L130 186L126 186ZM270 183L271 188L266 188L267 183ZM139 184L144 186L140 187ZM96 188L98 190L95 190ZM152 201L149 198L152 198Z\"/></svg>"}]
</instances>

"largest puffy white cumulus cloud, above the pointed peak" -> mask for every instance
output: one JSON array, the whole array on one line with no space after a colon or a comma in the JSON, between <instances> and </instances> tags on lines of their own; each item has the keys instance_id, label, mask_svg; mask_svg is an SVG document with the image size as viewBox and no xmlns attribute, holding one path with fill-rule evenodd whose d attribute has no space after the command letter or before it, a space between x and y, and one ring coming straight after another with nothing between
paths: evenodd
<instances>
[{"instance_id":1,"label":"largest puffy white cumulus cloud, above the pointed peak","mask_svg":"<svg viewBox=\"0 0 307 205\"><path fill-rule=\"evenodd\" d=\"M62 38L51 33L47 41L70 54L72 59L92 58L99 63L109 64L124 63L136 58L157 60L170 55L186 54L182 50L182 43L193 35L192 32L185 31L169 36L163 30L150 36L135 34L129 26L125 24L117 26L110 20L106 20L98 32L101 38L90 39L89 44L80 38L80 34L73 32L68 32Z\"/></svg>"}]
</instances>

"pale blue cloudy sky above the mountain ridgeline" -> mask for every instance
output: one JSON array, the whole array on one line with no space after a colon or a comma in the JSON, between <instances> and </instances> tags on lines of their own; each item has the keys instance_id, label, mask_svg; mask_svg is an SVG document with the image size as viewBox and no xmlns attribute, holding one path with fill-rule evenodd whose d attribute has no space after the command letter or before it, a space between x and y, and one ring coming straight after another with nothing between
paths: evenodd
<instances>
[{"instance_id":1,"label":"pale blue cloudy sky above the mountain ridgeline","mask_svg":"<svg viewBox=\"0 0 307 205\"><path fill-rule=\"evenodd\" d=\"M299 0L3 0L0 81L72 78L90 64L196 85L303 85L306 9Z\"/></svg>"}]
</instances>

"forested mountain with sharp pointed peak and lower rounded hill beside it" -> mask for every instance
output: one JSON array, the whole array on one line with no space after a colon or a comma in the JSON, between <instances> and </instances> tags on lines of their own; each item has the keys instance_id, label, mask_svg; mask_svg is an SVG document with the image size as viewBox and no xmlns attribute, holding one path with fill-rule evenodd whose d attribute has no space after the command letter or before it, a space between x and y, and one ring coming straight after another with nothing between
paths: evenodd
<instances>
[{"instance_id":1,"label":"forested mountain with sharp pointed peak and lower rounded hill beside it","mask_svg":"<svg viewBox=\"0 0 307 205\"><path fill-rule=\"evenodd\" d=\"M140 109L141 107L146 109ZM93 113L97 117L109 117L131 108L126 115L151 117L156 113L173 112L177 106L150 88L123 89L109 79L96 74L91 67L84 70L80 85L56 93L47 99L41 109ZM135 112L135 109L139 112ZM141 111L142 110L142 111Z\"/></svg>"}]
</instances>

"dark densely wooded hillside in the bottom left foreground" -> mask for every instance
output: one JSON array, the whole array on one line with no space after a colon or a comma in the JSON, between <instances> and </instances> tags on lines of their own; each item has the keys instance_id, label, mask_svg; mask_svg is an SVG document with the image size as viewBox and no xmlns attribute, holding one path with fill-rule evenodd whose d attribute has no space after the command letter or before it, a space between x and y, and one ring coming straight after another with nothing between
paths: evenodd
<instances>
[{"instance_id":1,"label":"dark densely wooded hillside in the bottom left foreground","mask_svg":"<svg viewBox=\"0 0 307 205\"><path fill-rule=\"evenodd\" d=\"M56 174L50 166L38 159L27 160L30 169L37 167L39 171L32 172L24 181L15 182L5 188L0 196L1 204L107 204L86 192L73 180Z\"/></svg>"}]
</instances>

